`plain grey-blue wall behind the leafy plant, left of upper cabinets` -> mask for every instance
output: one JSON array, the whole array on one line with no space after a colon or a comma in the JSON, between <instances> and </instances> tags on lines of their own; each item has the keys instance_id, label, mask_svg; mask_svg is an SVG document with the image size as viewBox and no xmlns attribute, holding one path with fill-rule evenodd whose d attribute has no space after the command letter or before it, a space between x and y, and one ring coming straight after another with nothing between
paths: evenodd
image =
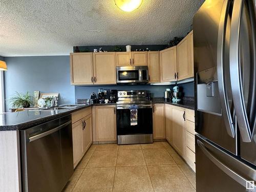
<instances>
[{"instance_id":1,"label":"plain grey-blue wall behind the leafy plant, left of upper cabinets","mask_svg":"<svg viewBox=\"0 0 256 192\"><path fill-rule=\"evenodd\" d=\"M70 84L69 56L5 57L6 99L15 91L33 95L41 93L60 94L59 103L75 102L75 87ZM6 102L6 109L9 103ZM8 111L8 110L6 110Z\"/></svg>"}]
</instances>

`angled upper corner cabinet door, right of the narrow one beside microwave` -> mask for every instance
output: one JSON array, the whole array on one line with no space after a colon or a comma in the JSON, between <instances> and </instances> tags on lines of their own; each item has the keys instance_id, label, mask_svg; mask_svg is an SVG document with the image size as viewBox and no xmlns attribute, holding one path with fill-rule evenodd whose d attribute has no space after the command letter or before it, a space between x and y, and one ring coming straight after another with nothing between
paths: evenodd
<instances>
[{"instance_id":1,"label":"angled upper corner cabinet door, right of the narrow one beside microwave","mask_svg":"<svg viewBox=\"0 0 256 192\"><path fill-rule=\"evenodd\" d=\"M177 73L176 46L160 51L161 82L175 81Z\"/></svg>"}]
</instances>

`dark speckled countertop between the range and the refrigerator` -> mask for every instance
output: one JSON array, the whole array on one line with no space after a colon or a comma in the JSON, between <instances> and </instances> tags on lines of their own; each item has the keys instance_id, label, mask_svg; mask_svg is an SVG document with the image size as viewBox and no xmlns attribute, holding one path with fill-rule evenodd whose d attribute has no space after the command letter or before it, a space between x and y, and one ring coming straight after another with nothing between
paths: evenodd
<instances>
[{"instance_id":1,"label":"dark speckled countertop between the range and the refrigerator","mask_svg":"<svg viewBox=\"0 0 256 192\"><path fill-rule=\"evenodd\" d=\"M172 100L164 100L164 98L152 98L152 103L166 103L166 104L171 104L175 106L180 106L181 108L186 108L189 110L194 110L195 109L195 101L193 99L183 99L180 102L173 102Z\"/></svg>"}]
</instances>

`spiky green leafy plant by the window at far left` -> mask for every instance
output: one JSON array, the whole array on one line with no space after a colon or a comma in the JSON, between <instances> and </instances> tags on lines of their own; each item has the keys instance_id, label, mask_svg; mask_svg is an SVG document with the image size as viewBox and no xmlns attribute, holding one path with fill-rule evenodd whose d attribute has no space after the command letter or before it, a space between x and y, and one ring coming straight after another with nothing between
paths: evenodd
<instances>
[{"instance_id":1,"label":"spiky green leafy plant by the window at far left","mask_svg":"<svg viewBox=\"0 0 256 192\"><path fill-rule=\"evenodd\" d=\"M28 108L33 103L33 98L29 95L29 92L26 94L18 93L9 99L12 108Z\"/></svg>"}]
</instances>

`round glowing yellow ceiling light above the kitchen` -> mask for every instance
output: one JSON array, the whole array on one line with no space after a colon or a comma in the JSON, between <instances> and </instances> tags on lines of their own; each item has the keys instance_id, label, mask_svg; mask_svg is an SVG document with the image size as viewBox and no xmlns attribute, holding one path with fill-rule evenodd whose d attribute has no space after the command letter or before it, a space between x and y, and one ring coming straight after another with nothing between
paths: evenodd
<instances>
[{"instance_id":1,"label":"round glowing yellow ceiling light above the kitchen","mask_svg":"<svg viewBox=\"0 0 256 192\"><path fill-rule=\"evenodd\" d=\"M142 0L115 0L116 6L125 12L132 12L138 9L141 3Z\"/></svg>"}]
</instances>

